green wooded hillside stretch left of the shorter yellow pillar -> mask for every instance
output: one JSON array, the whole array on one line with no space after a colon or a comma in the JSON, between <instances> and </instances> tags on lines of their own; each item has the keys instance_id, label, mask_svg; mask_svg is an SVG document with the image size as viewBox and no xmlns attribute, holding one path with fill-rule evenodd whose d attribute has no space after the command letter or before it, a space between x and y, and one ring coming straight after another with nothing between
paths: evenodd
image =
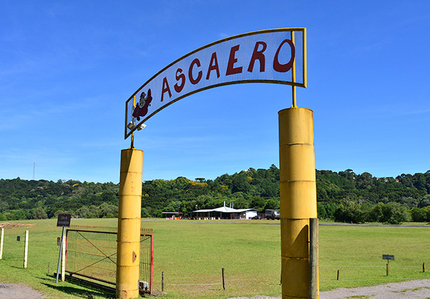
<instances>
[{"instance_id":1,"label":"green wooded hillside stretch left of the shorter yellow pillar","mask_svg":"<svg viewBox=\"0 0 430 299\"><path fill-rule=\"evenodd\" d=\"M118 195L118 184L111 182L1 179L0 220L46 219L59 212L71 212L75 217L115 217ZM91 205L93 210L89 210Z\"/></svg>"}]
</instances>

